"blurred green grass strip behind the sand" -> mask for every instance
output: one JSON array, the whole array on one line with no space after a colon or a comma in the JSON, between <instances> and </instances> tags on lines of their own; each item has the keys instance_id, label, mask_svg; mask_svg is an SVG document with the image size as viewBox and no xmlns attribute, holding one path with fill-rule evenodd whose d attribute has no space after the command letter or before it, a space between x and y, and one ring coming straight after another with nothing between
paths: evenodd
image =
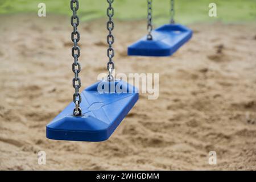
<instances>
[{"instance_id":1,"label":"blurred green grass strip behind the sand","mask_svg":"<svg viewBox=\"0 0 256 182\"><path fill-rule=\"evenodd\" d=\"M38 12L38 4L46 3L47 14L71 15L69 0L0 0L0 14L18 14ZM217 4L217 17L208 16L208 5ZM80 0L79 16L81 20L90 20L106 16L105 0ZM146 18L146 0L115 0L114 18L137 20ZM252 22L256 20L256 0L176 0L175 20L179 23L194 22ZM170 0L153 1L153 21L166 23L170 16Z\"/></svg>"}]
</instances>

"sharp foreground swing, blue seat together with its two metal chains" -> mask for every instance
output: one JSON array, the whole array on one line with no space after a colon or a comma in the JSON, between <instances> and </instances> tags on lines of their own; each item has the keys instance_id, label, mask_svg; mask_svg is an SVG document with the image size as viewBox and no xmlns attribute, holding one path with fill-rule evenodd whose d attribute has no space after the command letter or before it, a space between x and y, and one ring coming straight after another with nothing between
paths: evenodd
<instances>
[{"instance_id":1,"label":"sharp foreground swing, blue seat together with its two metal chains","mask_svg":"<svg viewBox=\"0 0 256 182\"><path fill-rule=\"evenodd\" d=\"M112 47L114 43L114 36L112 35L114 28L112 19L114 15L113 1L107 0L109 3L107 9L109 17L107 22L107 29L109 30L109 35L107 36L109 44L107 53L109 57L107 66L108 78L94 83L80 94L81 80L79 72L81 71L81 65L78 61L80 47L77 46L80 34L77 31L79 17L76 14L79 9L79 1L71 0L71 10L73 11L71 17L73 26L71 39L74 43L72 47L72 56L74 57L72 71L75 73L73 78L75 93L73 94L73 102L46 126L46 137L49 139L88 142L106 140L112 135L139 98L137 88L127 84L125 81L115 80L112 74L114 69L114 62L112 61L114 57L114 49ZM98 88L104 89L104 92L98 92ZM112 88L114 88L114 92ZM122 89L122 91L125 90L125 92L117 92L115 88Z\"/></svg>"}]
</instances>

